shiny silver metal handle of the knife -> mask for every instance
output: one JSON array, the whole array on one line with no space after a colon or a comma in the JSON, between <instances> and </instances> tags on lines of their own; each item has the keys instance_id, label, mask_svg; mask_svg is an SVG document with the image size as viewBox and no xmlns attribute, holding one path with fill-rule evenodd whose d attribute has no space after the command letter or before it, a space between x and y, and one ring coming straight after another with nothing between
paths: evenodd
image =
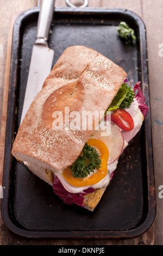
<instances>
[{"instance_id":1,"label":"shiny silver metal handle of the knife","mask_svg":"<svg viewBox=\"0 0 163 256\"><path fill-rule=\"evenodd\" d=\"M54 2L55 0L41 1L35 44L43 44L47 46L49 29L53 18Z\"/></svg>"}]
</instances>

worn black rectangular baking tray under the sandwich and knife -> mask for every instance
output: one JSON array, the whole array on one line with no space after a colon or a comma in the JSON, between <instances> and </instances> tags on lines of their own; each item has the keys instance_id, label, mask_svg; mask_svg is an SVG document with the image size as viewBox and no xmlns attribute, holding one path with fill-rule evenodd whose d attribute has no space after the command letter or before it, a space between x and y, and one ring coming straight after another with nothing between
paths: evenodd
<instances>
[{"instance_id":1,"label":"worn black rectangular baking tray under the sandwich and knife","mask_svg":"<svg viewBox=\"0 0 163 256\"><path fill-rule=\"evenodd\" d=\"M139 16L126 9L54 8L49 35L49 47L55 51L53 65L68 46L93 48L127 72L131 87L141 81L149 107L141 131L124 150L110 185L95 211L90 212L64 204L51 186L11 156L39 10L25 11L14 25L1 203L3 221L23 237L129 239L139 236L151 226L156 211L145 25ZM116 27L120 21L126 21L135 30L135 44L126 44L118 35Z\"/></svg>"}]
</instances>

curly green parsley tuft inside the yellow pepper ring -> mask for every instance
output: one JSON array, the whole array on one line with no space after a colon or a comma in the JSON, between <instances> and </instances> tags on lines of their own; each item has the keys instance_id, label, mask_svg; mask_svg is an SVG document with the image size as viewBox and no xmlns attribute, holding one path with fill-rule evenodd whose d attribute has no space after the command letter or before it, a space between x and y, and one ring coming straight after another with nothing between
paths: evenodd
<instances>
[{"instance_id":1,"label":"curly green parsley tuft inside the yellow pepper ring","mask_svg":"<svg viewBox=\"0 0 163 256\"><path fill-rule=\"evenodd\" d=\"M95 168L99 169L101 159L97 150L87 143L84 145L82 153L70 167L74 178L85 178L90 173L94 173Z\"/></svg>"}]
</instances>

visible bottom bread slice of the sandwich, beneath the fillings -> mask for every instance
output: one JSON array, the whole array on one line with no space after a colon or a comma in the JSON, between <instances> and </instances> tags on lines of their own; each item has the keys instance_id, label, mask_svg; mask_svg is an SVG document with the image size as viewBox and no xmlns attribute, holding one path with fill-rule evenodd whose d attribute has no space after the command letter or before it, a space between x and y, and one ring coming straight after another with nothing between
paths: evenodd
<instances>
[{"instance_id":1,"label":"visible bottom bread slice of the sandwich, beneath the fillings","mask_svg":"<svg viewBox=\"0 0 163 256\"><path fill-rule=\"evenodd\" d=\"M38 166L34 163L24 162L24 164L28 167L28 169L34 173L37 177L39 177L41 180L47 182L49 185L53 186L53 173L47 172L47 170L43 167ZM97 188L95 191L89 194L85 194L84 197L84 208L93 211L95 210L97 204L101 200L103 193L105 192L105 188Z\"/></svg>"}]
</instances>

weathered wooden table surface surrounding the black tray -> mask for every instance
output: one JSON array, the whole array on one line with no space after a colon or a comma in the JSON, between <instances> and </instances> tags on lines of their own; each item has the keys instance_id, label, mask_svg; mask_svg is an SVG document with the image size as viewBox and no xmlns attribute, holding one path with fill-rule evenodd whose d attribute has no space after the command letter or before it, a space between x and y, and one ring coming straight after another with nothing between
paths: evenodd
<instances>
[{"instance_id":1,"label":"weathered wooden table surface surrounding the black tray","mask_svg":"<svg viewBox=\"0 0 163 256\"><path fill-rule=\"evenodd\" d=\"M72 3L83 3L72 0ZM0 185L3 176L5 125L7 117L8 86L12 26L22 11L37 5L36 0L0 0ZM66 7L65 0L56 0L56 7ZM149 93L151 99L152 137L156 190L156 218L144 234L129 240L32 240L13 234L0 217L0 245L163 245L163 198L159 187L163 186L162 145L162 66L163 66L163 1L161 0L89 0L89 7L126 8L142 17L147 29ZM162 45L161 45L162 44ZM3 199L0 199L3 200Z\"/></svg>"}]
</instances>

